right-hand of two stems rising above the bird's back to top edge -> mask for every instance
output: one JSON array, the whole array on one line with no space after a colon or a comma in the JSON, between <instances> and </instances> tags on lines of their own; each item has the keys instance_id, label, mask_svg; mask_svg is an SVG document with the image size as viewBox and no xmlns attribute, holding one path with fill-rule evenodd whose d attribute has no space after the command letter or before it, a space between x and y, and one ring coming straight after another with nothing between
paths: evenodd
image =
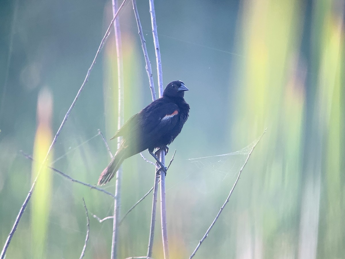
<instances>
[{"instance_id":1,"label":"right-hand of two stems rising above the bird's back to top edge","mask_svg":"<svg viewBox=\"0 0 345 259\"><path fill-rule=\"evenodd\" d=\"M163 74L162 74L162 61L160 60L160 49L159 49L159 42L158 42L158 32L157 32L154 0L150 0L149 3L150 3L153 43L155 45L155 52L156 52L158 90L159 90L159 97L161 97L163 95Z\"/></svg>"}]
</instances>

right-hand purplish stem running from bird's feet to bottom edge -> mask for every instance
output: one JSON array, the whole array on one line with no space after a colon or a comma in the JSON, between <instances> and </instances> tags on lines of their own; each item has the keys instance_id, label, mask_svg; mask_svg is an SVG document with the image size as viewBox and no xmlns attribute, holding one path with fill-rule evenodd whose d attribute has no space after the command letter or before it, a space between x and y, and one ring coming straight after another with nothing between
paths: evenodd
<instances>
[{"instance_id":1,"label":"right-hand purplish stem running from bird's feet to bottom edge","mask_svg":"<svg viewBox=\"0 0 345 259\"><path fill-rule=\"evenodd\" d=\"M164 151L159 153L159 161L165 164ZM162 222L162 240L164 258L169 259L168 230L167 230L167 209L165 204L165 173L160 171L160 218Z\"/></svg>"}]
</instances>

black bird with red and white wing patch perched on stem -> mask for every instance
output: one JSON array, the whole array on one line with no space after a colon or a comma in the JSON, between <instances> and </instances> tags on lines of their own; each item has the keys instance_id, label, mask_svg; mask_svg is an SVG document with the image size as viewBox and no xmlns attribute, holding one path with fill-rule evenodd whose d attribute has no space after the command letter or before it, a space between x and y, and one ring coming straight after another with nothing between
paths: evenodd
<instances>
[{"instance_id":1,"label":"black bird with red and white wing patch perched on stem","mask_svg":"<svg viewBox=\"0 0 345 259\"><path fill-rule=\"evenodd\" d=\"M111 140L122 136L122 142L110 164L99 176L99 185L109 182L126 158L146 149L151 152L155 148L167 149L188 118L189 105L183 98L185 91L188 88L183 81L170 82L162 97L129 118L115 133Z\"/></svg>"}]
</instances>

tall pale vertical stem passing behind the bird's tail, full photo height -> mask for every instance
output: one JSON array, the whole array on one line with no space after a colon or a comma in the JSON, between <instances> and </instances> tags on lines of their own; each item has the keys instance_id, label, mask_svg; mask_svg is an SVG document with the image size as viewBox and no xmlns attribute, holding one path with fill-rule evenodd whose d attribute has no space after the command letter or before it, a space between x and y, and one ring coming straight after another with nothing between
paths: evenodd
<instances>
[{"instance_id":1,"label":"tall pale vertical stem passing behind the bird's tail, full photo height","mask_svg":"<svg viewBox=\"0 0 345 259\"><path fill-rule=\"evenodd\" d=\"M115 16L118 10L118 0L112 0L112 12ZM116 39L116 54L117 54L117 74L118 74L118 129L124 124L124 72L123 72L123 60L122 60L122 45L121 45L121 32L119 18L117 17L114 22L115 39ZM120 147L122 138L117 140L117 148ZM119 240L119 217L120 217L120 203L121 203L121 179L122 168L116 172L115 183L115 201L114 201L114 220L112 229L112 243L111 243L111 259L117 258L117 246Z\"/></svg>"}]
</instances>

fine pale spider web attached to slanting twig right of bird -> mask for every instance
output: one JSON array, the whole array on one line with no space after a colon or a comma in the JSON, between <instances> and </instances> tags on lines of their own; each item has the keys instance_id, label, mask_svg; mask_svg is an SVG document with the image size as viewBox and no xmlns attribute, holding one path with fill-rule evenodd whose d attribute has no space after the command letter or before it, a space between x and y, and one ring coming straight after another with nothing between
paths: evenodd
<instances>
[{"instance_id":1,"label":"fine pale spider web attached to slanting twig right of bird","mask_svg":"<svg viewBox=\"0 0 345 259\"><path fill-rule=\"evenodd\" d=\"M256 142L257 140L232 153L190 158L188 161L197 167L198 170L217 174L223 177L223 180L233 178L242 167Z\"/></svg>"}]
</instances>

